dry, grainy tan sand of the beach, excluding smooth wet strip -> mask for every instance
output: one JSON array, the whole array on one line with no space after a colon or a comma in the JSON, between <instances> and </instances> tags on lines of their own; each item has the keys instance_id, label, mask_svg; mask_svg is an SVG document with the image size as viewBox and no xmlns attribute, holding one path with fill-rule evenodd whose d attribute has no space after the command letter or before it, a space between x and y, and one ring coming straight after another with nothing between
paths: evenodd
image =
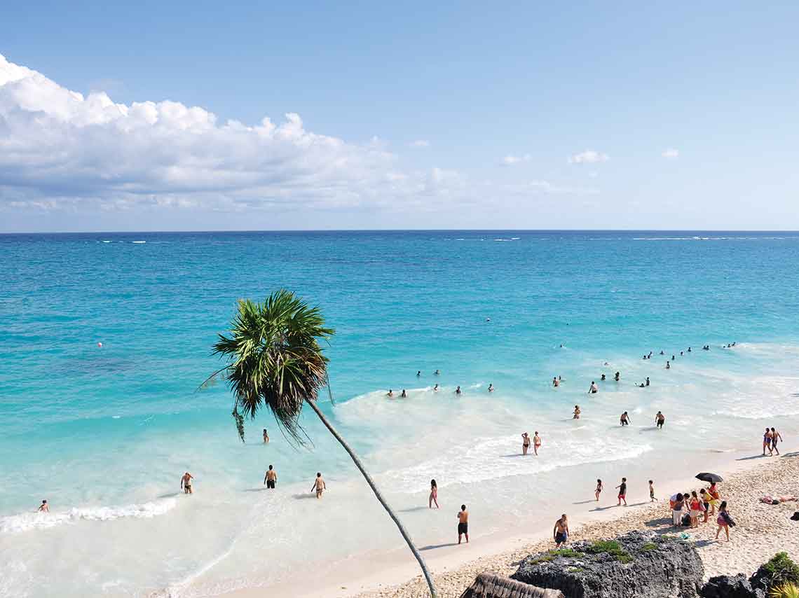
<instances>
[{"instance_id":1,"label":"dry, grainy tan sand of the beach, excluding smooth wet strip","mask_svg":"<svg viewBox=\"0 0 799 598\"><path fill-rule=\"evenodd\" d=\"M726 474L725 481L719 485L721 497L728 501L729 513L737 523L730 532L729 542L725 541L723 531L720 540L715 540L718 526L714 517L706 524L700 521L698 529L675 528L671 525L668 497L646 505L615 509L598 518L586 518L582 523L573 519L570 541L612 538L634 529L658 534L685 532L689 534L689 540L695 542L702 558L705 579L739 572L749 576L775 552L788 552L791 558L799 560L799 522L789 518L797 510L797 502L766 505L758 500L765 494L799 494L799 453L763 457L749 463L737 461L737 464L730 464L730 469L733 473ZM672 486L696 489L702 487L702 482L686 479L682 485ZM481 572L510 576L525 556L555 547L551 529L542 530L542 533L549 534L547 539L509 541L508 545L515 545L513 548L480 556L466 564L453 567L437 562L434 579L439 595L446 598L460 596ZM344 594L341 588L327 588L324 593L358 598L419 598L429 595L427 584L420 576L389 588L352 594Z\"/></svg>"}]
</instances>

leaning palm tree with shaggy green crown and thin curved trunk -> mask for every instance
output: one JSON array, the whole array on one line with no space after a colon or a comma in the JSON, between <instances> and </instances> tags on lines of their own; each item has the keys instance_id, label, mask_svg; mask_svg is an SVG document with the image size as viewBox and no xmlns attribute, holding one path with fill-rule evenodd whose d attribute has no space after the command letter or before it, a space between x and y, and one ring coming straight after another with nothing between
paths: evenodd
<instances>
[{"instance_id":1,"label":"leaning palm tree with shaggy green crown and thin curved trunk","mask_svg":"<svg viewBox=\"0 0 799 598\"><path fill-rule=\"evenodd\" d=\"M407 530L355 451L316 405L317 392L328 379L328 358L322 353L319 339L329 339L335 334L332 328L324 326L319 307L308 307L294 293L281 289L269 295L264 303L240 299L230 328L230 335L219 335L219 340L213 346L213 353L223 356L228 362L212 374L203 386L217 374L223 374L227 379L233 390L233 418L241 442L244 442L244 417L255 418L257 411L265 406L272 411L288 438L297 444L304 444L308 437L300 426L299 418L303 405L310 406L347 451L377 500L400 529L408 548L419 561L430 595L435 598L430 572Z\"/></svg>"}]
</instances>

